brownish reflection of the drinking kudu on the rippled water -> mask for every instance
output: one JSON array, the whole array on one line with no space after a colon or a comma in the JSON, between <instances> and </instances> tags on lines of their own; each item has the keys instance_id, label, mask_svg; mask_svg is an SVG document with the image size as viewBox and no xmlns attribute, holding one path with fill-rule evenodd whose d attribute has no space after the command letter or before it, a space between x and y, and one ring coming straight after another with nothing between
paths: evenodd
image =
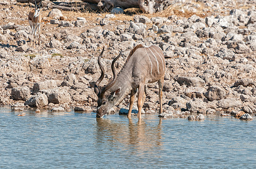
<instances>
[{"instance_id":1,"label":"brownish reflection of the drinking kudu on the rippled water","mask_svg":"<svg viewBox=\"0 0 256 169\"><path fill-rule=\"evenodd\" d=\"M154 152L161 149L162 126L161 118L157 124L147 124L144 121L133 121L129 123L116 122L110 119L97 118L96 140L97 144L116 145L123 149L131 149L134 153L138 150L143 152Z\"/></svg>"}]
</instances>

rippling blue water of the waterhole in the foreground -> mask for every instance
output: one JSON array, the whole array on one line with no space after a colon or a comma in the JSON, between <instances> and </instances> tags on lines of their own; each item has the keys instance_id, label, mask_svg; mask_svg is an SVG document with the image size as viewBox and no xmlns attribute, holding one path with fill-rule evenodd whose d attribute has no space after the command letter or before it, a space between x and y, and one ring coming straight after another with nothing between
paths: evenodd
<instances>
[{"instance_id":1,"label":"rippling blue water of the waterhole in the foreground","mask_svg":"<svg viewBox=\"0 0 256 169\"><path fill-rule=\"evenodd\" d=\"M0 168L255 168L256 122L0 108Z\"/></svg>"}]
</instances>

